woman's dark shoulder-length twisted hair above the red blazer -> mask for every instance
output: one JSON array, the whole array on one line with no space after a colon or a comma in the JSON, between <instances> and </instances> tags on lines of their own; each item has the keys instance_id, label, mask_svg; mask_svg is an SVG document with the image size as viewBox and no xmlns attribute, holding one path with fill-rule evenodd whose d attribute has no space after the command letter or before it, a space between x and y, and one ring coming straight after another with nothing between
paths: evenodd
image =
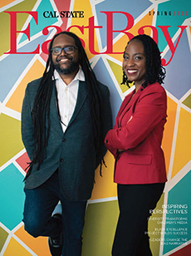
<instances>
[{"instance_id":1,"label":"woman's dark shoulder-length twisted hair above the red blazer","mask_svg":"<svg viewBox=\"0 0 191 256\"><path fill-rule=\"evenodd\" d=\"M154 82L158 81L159 84L164 83L164 77L166 71L164 66L161 65L161 57L159 52L159 47L157 46L156 42L154 42L152 37L147 35L138 35L133 37L130 42L137 40L142 42L144 46L144 55L146 58L146 73L145 73L145 81L142 86L146 87ZM128 42L128 44L130 43ZM127 44L127 45L128 45ZM125 72L123 72L123 81L121 84L126 84L129 86L130 81L128 81Z\"/></svg>"}]
</instances>

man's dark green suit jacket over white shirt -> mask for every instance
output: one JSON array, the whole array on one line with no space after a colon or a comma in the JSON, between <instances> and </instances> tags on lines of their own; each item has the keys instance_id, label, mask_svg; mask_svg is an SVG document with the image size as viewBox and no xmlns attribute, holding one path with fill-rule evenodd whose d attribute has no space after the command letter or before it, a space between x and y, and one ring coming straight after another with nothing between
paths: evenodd
<instances>
[{"instance_id":1,"label":"man's dark green suit jacket over white shirt","mask_svg":"<svg viewBox=\"0 0 191 256\"><path fill-rule=\"evenodd\" d=\"M32 160L33 125L32 107L41 79L27 85L22 105L22 141L27 154ZM110 93L107 86L99 83L104 106L104 134L111 129ZM68 200L90 199L94 185L94 175L100 159L96 159L91 124L90 99L86 83L80 81L76 108L65 133L56 108L56 88L53 87L50 107L50 136L46 158L40 170L33 165L31 174L25 181L25 188L32 190L42 185L51 175L59 170L61 190ZM104 141L103 141L104 142ZM100 149L100 157L105 155L105 147Z\"/></svg>"}]
</instances>

